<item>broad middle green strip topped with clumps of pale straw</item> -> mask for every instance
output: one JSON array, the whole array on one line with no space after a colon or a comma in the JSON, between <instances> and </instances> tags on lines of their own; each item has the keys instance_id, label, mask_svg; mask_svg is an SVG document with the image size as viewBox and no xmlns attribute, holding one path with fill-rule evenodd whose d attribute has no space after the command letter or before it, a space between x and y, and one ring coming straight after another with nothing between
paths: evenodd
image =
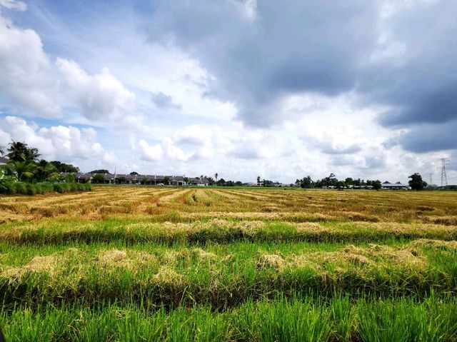
<instances>
[{"instance_id":1,"label":"broad middle green strip topped with clumps of pale straw","mask_svg":"<svg viewBox=\"0 0 457 342\"><path fill-rule=\"evenodd\" d=\"M388 245L232 243L1 248L4 308L103 303L148 308L211 305L313 293L426 298L455 293L457 243L420 239Z\"/></svg>"}]
</instances>

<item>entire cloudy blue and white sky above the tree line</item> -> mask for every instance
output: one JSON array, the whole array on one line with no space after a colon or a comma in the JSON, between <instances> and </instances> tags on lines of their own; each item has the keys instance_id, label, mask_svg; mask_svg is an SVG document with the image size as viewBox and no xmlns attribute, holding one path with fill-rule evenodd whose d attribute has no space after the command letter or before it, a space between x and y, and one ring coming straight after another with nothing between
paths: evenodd
<instances>
[{"instance_id":1,"label":"entire cloudy blue and white sky above the tree line","mask_svg":"<svg viewBox=\"0 0 457 342\"><path fill-rule=\"evenodd\" d=\"M456 0L0 0L0 146L81 171L457 183Z\"/></svg>"}]
</instances>

